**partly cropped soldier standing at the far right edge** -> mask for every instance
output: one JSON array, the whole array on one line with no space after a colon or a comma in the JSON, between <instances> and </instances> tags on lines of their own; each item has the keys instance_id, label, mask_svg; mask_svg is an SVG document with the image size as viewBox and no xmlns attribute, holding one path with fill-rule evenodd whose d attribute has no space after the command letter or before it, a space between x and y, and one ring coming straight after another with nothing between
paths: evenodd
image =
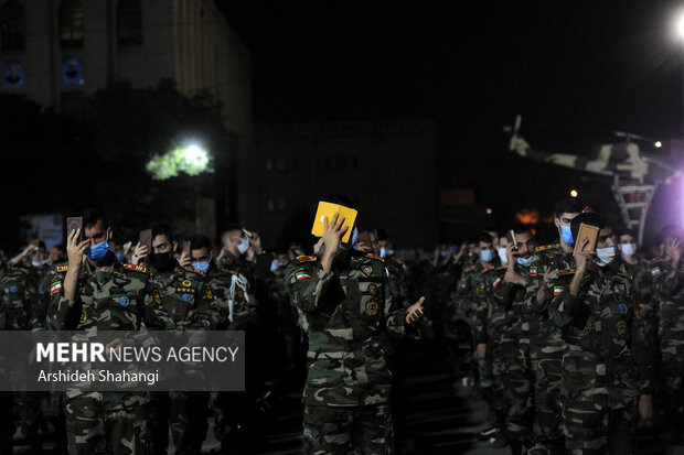
<instances>
[{"instance_id":1,"label":"partly cropped soldier standing at the far right edge","mask_svg":"<svg viewBox=\"0 0 684 455\"><path fill-rule=\"evenodd\" d=\"M653 261L651 277L658 294L658 337L660 340L660 393L665 411L664 433L676 443L684 430L684 230L664 231L665 257Z\"/></svg>"}]
</instances>

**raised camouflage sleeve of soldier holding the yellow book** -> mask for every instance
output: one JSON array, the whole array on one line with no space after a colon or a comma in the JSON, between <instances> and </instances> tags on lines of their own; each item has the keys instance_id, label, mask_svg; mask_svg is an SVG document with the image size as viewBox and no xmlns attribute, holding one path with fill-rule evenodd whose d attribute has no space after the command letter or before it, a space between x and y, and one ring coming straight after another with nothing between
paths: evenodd
<instances>
[{"instance_id":1,"label":"raised camouflage sleeve of soldier holding the yellow book","mask_svg":"<svg viewBox=\"0 0 684 455\"><path fill-rule=\"evenodd\" d=\"M325 273L320 262L313 264L293 261L287 268L292 303L302 313L334 313L343 300L343 292L334 272Z\"/></svg>"}]
</instances>

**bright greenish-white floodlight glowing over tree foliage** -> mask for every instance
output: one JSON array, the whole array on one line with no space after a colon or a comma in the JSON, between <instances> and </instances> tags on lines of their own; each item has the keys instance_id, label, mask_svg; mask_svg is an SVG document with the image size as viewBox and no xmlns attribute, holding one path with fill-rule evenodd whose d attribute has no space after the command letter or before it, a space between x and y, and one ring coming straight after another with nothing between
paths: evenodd
<instances>
[{"instance_id":1,"label":"bright greenish-white floodlight glowing over tree foliage","mask_svg":"<svg viewBox=\"0 0 684 455\"><path fill-rule=\"evenodd\" d=\"M214 172L207 151L196 144L179 147L161 156L154 155L146 169L154 180L175 177L181 172L188 175Z\"/></svg>"}]
</instances>

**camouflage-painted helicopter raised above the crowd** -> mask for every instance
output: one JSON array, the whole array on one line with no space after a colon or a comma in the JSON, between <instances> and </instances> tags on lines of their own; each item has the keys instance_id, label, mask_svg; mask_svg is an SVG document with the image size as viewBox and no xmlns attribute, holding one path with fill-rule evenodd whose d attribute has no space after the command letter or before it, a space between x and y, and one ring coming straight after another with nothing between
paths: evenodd
<instances>
[{"instance_id":1,"label":"camouflage-painted helicopter raised above the crowd","mask_svg":"<svg viewBox=\"0 0 684 455\"><path fill-rule=\"evenodd\" d=\"M640 243L643 242L646 215L655 191L660 185L669 185L684 175L652 154L643 153L634 140L648 139L639 134L616 132L616 136L624 138L622 142L599 145L586 158L532 149L520 136L521 124L522 116L519 115L513 127L504 127L504 131L511 133L511 151L538 162L612 177L611 189L622 219L629 228L639 232Z\"/></svg>"}]
</instances>

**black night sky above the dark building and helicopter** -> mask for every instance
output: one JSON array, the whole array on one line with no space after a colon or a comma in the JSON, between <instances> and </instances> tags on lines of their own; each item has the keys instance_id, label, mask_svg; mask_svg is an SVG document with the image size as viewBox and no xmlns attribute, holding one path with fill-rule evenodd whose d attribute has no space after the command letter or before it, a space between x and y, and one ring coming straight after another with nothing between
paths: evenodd
<instances>
[{"instance_id":1,"label":"black night sky above the dark building and helicopter","mask_svg":"<svg viewBox=\"0 0 684 455\"><path fill-rule=\"evenodd\" d=\"M676 2L224 3L252 54L255 122L434 118L438 187L474 186L482 205L548 207L568 187L612 205L606 178L509 152L516 113L549 152L684 134Z\"/></svg>"}]
</instances>

